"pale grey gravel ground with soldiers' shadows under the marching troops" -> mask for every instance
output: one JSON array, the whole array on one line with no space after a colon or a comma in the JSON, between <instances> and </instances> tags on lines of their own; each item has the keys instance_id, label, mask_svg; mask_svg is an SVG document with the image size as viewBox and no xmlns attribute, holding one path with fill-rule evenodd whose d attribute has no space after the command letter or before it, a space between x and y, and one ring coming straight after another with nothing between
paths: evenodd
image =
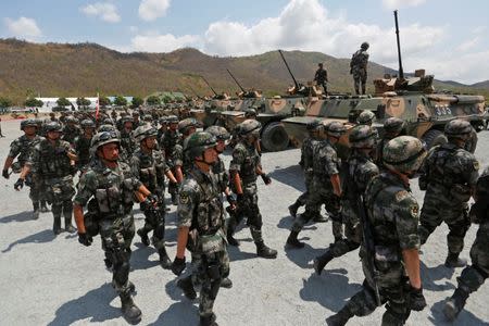
<instances>
[{"instance_id":1,"label":"pale grey gravel ground with soldiers' shadows under the marching troops","mask_svg":"<svg viewBox=\"0 0 489 326\"><path fill-rule=\"evenodd\" d=\"M3 122L0 138L1 162L10 142L21 135L20 121ZM489 133L479 134L477 158L488 164ZM239 249L229 248L231 289L222 289L215 302L220 325L324 325L325 317L337 312L363 281L358 252L336 259L326 273L316 276L312 268L315 255L333 241L330 224L308 225L300 234L304 249L288 250L284 243L292 220L287 206L304 190L296 149L264 153L262 161L273 178L269 186L259 181L260 208L264 220L265 242L278 250L276 260L256 258L248 228L236 237ZM226 161L229 156L225 156ZM80 246L76 236L66 233L54 237L51 213L32 220L28 191L15 192L10 180L0 179L0 325L125 325L120 300L111 286L111 274L103 265L100 237L89 248ZM419 203L423 193L417 180L412 185ZM135 205L137 226L143 223ZM175 208L167 216L167 250L176 251ZM468 258L477 226L466 236L462 256ZM456 286L460 268L443 266L447 254L446 226L439 227L424 247L422 277L428 306L413 312L408 325L444 325L443 301ZM189 254L187 254L189 259ZM171 271L159 266L153 248L143 247L136 236L133 243L130 280L136 285L136 303L142 310L141 325L198 325L198 300L190 302L176 288ZM486 298L486 299L484 299ZM482 286L471 296L455 325L482 325L489 321L484 303L489 287ZM349 325L380 324L384 308L366 317L354 317Z\"/></svg>"}]
</instances>

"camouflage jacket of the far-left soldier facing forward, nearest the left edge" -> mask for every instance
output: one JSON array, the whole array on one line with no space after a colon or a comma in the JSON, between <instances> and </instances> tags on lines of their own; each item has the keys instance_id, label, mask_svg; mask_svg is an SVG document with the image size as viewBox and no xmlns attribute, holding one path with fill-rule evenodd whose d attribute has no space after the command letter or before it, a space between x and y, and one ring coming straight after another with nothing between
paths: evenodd
<instances>
[{"instance_id":1,"label":"camouflage jacket of the far-left soldier facing forward, nearest the left edge","mask_svg":"<svg viewBox=\"0 0 489 326\"><path fill-rule=\"evenodd\" d=\"M67 153L75 154L65 140L58 140L55 146L42 138L33 149L26 164L34 175L47 180L71 176L73 167Z\"/></svg>"}]
</instances>

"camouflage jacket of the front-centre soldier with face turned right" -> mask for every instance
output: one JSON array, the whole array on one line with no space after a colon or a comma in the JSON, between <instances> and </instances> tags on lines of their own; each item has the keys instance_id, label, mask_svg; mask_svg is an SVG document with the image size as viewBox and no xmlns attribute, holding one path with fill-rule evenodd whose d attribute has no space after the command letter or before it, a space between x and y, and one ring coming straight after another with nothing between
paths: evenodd
<instances>
[{"instance_id":1,"label":"camouflage jacket of the front-centre soldier with face turned right","mask_svg":"<svg viewBox=\"0 0 489 326\"><path fill-rule=\"evenodd\" d=\"M193 166L179 190L178 227L196 229L197 251L209 254L225 250L224 210L216 176Z\"/></svg>"}]
</instances>

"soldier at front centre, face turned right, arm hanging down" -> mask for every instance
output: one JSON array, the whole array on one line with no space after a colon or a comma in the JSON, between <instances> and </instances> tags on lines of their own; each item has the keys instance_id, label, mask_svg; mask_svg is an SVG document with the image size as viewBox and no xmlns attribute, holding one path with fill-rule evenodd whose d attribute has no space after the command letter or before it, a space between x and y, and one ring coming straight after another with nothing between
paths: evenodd
<instances>
[{"instance_id":1,"label":"soldier at front centre, face turned right, arm hanging down","mask_svg":"<svg viewBox=\"0 0 489 326\"><path fill-rule=\"evenodd\" d=\"M177 252L172 265L175 275L180 275L185 269L185 248L187 242L192 242L195 251L201 255L199 314L202 326L217 325L214 300L222 279L229 275L221 189L212 173L212 165L217 161L215 146L216 138L209 133L196 133L186 143L185 150L193 163L180 187ZM197 234L196 238L190 231Z\"/></svg>"}]
</instances>

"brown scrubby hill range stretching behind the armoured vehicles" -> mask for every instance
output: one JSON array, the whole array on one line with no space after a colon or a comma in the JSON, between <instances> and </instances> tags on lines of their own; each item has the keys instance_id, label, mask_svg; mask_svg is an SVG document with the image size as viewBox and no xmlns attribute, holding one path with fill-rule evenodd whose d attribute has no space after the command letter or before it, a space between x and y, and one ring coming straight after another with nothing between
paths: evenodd
<instances>
[{"instance_id":1,"label":"brown scrubby hill range stretching behind the armoured vehicles","mask_svg":"<svg viewBox=\"0 0 489 326\"><path fill-rule=\"evenodd\" d=\"M352 91L349 59L337 59L319 52L284 52L299 82L313 79L318 62L328 71L330 90ZM254 87L265 95L283 93L292 84L277 51L259 55L220 58L196 49L170 53L121 53L96 43L30 43L0 39L0 97L22 103L28 96L89 97L127 95L146 97L155 91L179 90L200 96L211 95L201 76L217 91L239 90L227 74L229 68L244 88ZM376 63L368 66L372 80L392 70ZM429 73L429 70L427 68ZM472 88L437 82L437 88L489 92L486 82Z\"/></svg>"}]
</instances>

